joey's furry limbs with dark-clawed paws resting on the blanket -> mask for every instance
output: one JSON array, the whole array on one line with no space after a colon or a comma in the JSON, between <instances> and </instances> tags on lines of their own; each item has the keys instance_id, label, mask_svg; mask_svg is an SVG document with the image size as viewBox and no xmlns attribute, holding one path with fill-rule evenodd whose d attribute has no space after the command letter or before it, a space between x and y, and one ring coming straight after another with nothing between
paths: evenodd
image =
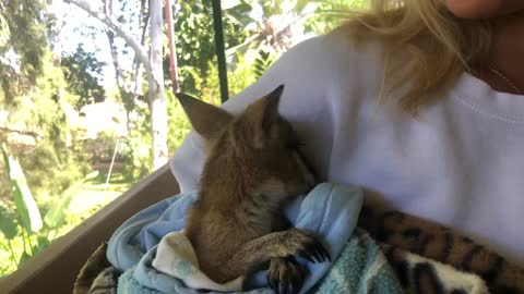
<instances>
[{"instance_id":1,"label":"joey's furry limbs with dark-clawed paws resting on the blanket","mask_svg":"<svg viewBox=\"0 0 524 294\"><path fill-rule=\"evenodd\" d=\"M233 277L251 272L253 269L260 269L264 265L270 265L273 268L271 281L272 285L277 285L278 281L286 277L291 277L295 284L301 286L303 278L296 277L295 268L298 265L290 265L287 258L300 256L311 262L322 262L331 260L330 254L324 246L311 234L308 234L298 229L290 229L282 232L273 232L262 237L255 238L240 246L235 255L227 261L223 271L227 271ZM278 277L276 277L278 270ZM291 272L285 272L285 271ZM299 289L299 287L298 287Z\"/></svg>"}]
</instances>

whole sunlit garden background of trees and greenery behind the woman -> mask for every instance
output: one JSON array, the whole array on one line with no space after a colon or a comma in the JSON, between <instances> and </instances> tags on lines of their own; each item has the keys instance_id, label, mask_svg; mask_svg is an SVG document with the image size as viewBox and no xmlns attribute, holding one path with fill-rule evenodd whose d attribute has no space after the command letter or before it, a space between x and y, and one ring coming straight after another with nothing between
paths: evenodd
<instances>
[{"instance_id":1,"label":"whole sunlit garden background of trees and greenery behind the woman","mask_svg":"<svg viewBox=\"0 0 524 294\"><path fill-rule=\"evenodd\" d=\"M0 277L151 173L151 1L0 1ZM76 4L75 4L76 3ZM224 0L229 96L294 44L329 32L365 0ZM219 103L211 0L171 1L178 89ZM168 154L189 123L175 101L167 26L163 69Z\"/></svg>"}]
</instances>

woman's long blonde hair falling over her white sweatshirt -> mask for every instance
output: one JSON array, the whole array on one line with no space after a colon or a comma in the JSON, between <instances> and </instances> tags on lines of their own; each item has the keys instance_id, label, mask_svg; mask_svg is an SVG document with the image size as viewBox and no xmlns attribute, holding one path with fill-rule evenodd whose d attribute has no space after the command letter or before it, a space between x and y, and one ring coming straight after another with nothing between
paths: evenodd
<instances>
[{"instance_id":1,"label":"woman's long blonde hair falling over her white sweatshirt","mask_svg":"<svg viewBox=\"0 0 524 294\"><path fill-rule=\"evenodd\" d=\"M473 72L492 41L487 21L458 19L443 0L370 0L338 29L349 29L356 40L381 42L381 93L396 91L398 106L413 114L438 101L461 73ZM398 54L406 59L395 59ZM407 88L405 81L410 81Z\"/></svg>"}]
</instances>

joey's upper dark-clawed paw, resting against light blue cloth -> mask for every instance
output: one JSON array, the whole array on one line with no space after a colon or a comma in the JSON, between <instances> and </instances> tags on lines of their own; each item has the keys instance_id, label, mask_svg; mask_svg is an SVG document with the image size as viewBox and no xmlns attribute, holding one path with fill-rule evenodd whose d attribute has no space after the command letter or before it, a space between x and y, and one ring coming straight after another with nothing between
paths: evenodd
<instances>
[{"instance_id":1,"label":"joey's upper dark-clawed paw, resting against light blue cloth","mask_svg":"<svg viewBox=\"0 0 524 294\"><path fill-rule=\"evenodd\" d=\"M313 264L331 261L330 253L313 235L298 229L291 229L286 233L288 234L286 244L291 250L290 255L301 256Z\"/></svg>"}]
</instances>

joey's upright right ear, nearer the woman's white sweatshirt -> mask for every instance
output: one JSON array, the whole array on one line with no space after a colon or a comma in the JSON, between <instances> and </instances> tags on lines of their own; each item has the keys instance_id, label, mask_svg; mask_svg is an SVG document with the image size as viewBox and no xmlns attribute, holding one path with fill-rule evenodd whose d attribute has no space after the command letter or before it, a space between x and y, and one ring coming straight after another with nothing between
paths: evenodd
<instances>
[{"instance_id":1,"label":"joey's upright right ear, nearer the woman's white sweatshirt","mask_svg":"<svg viewBox=\"0 0 524 294\"><path fill-rule=\"evenodd\" d=\"M278 103L283 90L284 85L278 86L246 110L245 120L252 127L255 145L260 145L264 138L267 138L273 126L278 122Z\"/></svg>"}]
</instances>

